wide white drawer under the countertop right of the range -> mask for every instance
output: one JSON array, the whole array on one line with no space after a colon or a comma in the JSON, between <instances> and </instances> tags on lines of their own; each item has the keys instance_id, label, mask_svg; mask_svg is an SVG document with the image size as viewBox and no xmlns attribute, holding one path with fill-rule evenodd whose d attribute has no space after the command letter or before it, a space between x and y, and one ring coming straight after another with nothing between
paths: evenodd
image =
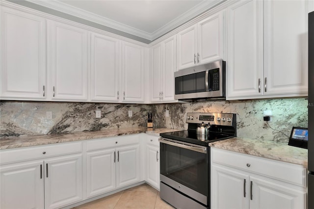
<instances>
[{"instance_id":1,"label":"wide white drawer under the countertop right of the range","mask_svg":"<svg viewBox=\"0 0 314 209\"><path fill-rule=\"evenodd\" d=\"M307 169L279 160L211 148L211 162L306 187Z\"/></svg>"}]
</instances>

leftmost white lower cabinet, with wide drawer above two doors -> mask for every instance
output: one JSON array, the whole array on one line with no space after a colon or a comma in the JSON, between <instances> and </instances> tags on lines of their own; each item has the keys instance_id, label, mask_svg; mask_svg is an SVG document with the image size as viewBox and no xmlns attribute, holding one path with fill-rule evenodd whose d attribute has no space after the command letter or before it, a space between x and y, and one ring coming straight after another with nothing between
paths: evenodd
<instances>
[{"instance_id":1,"label":"leftmost white lower cabinet, with wide drawer above two doors","mask_svg":"<svg viewBox=\"0 0 314 209\"><path fill-rule=\"evenodd\" d=\"M81 143L8 149L0 157L1 209L56 209L83 200Z\"/></svg>"}]
</instances>

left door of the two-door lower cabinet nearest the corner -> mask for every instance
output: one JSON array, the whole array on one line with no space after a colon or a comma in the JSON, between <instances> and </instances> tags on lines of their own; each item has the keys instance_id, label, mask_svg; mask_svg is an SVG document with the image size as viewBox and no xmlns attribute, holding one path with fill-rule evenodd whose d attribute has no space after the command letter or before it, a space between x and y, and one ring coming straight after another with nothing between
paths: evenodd
<instances>
[{"instance_id":1,"label":"left door of the two-door lower cabinet nearest the corner","mask_svg":"<svg viewBox=\"0 0 314 209\"><path fill-rule=\"evenodd\" d=\"M87 197L116 188L115 149L87 153Z\"/></svg>"}]
</instances>

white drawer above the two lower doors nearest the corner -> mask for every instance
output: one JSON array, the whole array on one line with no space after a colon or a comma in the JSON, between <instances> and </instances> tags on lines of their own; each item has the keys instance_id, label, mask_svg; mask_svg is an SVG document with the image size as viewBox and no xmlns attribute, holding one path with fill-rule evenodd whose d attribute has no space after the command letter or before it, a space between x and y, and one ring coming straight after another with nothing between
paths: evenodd
<instances>
[{"instance_id":1,"label":"white drawer above the two lower doors nearest the corner","mask_svg":"<svg viewBox=\"0 0 314 209\"><path fill-rule=\"evenodd\" d=\"M124 146L139 143L138 135L107 137L86 142L86 151L100 150L110 147Z\"/></svg>"}]
</instances>

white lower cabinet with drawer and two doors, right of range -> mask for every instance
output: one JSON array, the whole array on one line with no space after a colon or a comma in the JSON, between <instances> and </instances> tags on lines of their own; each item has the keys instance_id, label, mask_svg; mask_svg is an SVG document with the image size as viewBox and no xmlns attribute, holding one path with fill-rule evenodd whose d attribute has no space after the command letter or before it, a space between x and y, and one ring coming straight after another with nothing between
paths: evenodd
<instances>
[{"instance_id":1,"label":"white lower cabinet with drawer and two doors, right of range","mask_svg":"<svg viewBox=\"0 0 314 209\"><path fill-rule=\"evenodd\" d=\"M211 208L306 209L306 173L300 165L211 148Z\"/></svg>"}]
</instances>

